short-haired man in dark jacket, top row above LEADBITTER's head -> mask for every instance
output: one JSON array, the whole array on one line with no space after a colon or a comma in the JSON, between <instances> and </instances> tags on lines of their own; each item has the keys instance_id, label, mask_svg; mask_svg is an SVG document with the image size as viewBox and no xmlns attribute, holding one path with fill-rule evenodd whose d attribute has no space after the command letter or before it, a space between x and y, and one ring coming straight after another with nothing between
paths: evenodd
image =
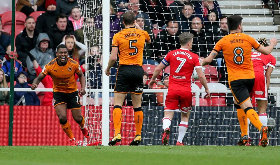
<instances>
[{"instance_id":1,"label":"short-haired man in dark jacket, top row above LEADBITTER's head","mask_svg":"<svg viewBox=\"0 0 280 165\"><path fill-rule=\"evenodd\" d=\"M191 3L185 2L180 15L176 15L177 21L180 22L182 33L189 32L191 20L195 17L193 6Z\"/></svg>"}]
</instances>

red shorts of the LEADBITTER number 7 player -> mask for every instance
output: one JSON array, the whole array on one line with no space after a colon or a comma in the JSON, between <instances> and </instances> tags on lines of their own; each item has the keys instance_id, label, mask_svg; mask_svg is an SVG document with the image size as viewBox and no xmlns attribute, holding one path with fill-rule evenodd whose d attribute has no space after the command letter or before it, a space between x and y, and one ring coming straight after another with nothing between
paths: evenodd
<instances>
[{"instance_id":1,"label":"red shorts of the LEADBITTER number 7 player","mask_svg":"<svg viewBox=\"0 0 280 165\"><path fill-rule=\"evenodd\" d=\"M181 111L187 113L192 110L192 93L186 91L168 90L164 111Z\"/></svg>"}]
</instances>

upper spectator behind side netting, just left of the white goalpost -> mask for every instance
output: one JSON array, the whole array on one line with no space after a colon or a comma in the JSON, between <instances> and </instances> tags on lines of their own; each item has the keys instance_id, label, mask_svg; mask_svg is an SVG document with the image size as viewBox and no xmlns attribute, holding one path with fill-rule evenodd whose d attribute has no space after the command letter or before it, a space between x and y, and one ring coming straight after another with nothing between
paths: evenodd
<instances>
[{"instance_id":1,"label":"upper spectator behind side netting, just left of the white goalpost","mask_svg":"<svg viewBox=\"0 0 280 165\"><path fill-rule=\"evenodd\" d=\"M85 44L86 41L89 47L93 45L97 45L98 47L102 46L102 29L97 29L96 25L94 18L88 17L85 19L85 33L83 32L83 28L75 31L82 44Z\"/></svg>"}]
</instances>

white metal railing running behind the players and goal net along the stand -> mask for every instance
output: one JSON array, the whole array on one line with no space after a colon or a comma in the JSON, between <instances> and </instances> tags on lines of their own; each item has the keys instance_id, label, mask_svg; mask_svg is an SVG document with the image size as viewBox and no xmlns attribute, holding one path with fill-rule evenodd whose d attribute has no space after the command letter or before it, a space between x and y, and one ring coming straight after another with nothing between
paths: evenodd
<instances>
[{"instance_id":1,"label":"white metal railing running behind the players and goal net along the stand","mask_svg":"<svg viewBox=\"0 0 280 165\"><path fill-rule=\"evenodd\" d=\"M10 88L0 88L0 91L10 91ZM25 92L53 92L53 88L36 88L34 91L31 88L14 88L14 91L25 91ZM98 93L102 92L102 89L85 89L87 93L94 93L95 105L98 105ZM163 93L163 100L167 95L167 89L143 89L143 93ZM109 92L114 92L113 89L109 89ZM231 93L229 89L210 89L211 93ZM204 89L192 89L192 93L195 93L195 106L199 106L200 93L205 93ZM280 107L280 88L271 87L268 93L276 93L276 107ZM83 105L86 105L86 95L83 96Z\"/></svg>"}]
</instances>

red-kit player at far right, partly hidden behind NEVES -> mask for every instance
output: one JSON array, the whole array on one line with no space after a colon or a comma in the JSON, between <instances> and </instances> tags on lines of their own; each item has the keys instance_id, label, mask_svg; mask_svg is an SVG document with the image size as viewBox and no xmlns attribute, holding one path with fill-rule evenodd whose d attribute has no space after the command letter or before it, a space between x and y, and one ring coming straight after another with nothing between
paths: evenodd
<instances>
[{"instance_id":1,"label":"red-kit player at far right, partly hidden behind NEVES","mask_svg":"<svg viewBox=\"0 0 280 165\"><path fill-rule=\"evenodd\" d=\"M268 43L265 38L259 38L257 40L261 45L267 47ZM267 126L267 93L270 84L270 76L275 68L276 59L271 54L265 55L260 52L252 52L251 60L253 62L253 68L255 71L255 84L252 90L252 96L255 97L258 105L258 115L262 125ZM250 120L248 119L248 136ZM249 138L250 139L250 138ZM247 146L251 146L252 143L247 143ZM259 142L260 146L260 142Z\"/></svg>"}]
</instances>

